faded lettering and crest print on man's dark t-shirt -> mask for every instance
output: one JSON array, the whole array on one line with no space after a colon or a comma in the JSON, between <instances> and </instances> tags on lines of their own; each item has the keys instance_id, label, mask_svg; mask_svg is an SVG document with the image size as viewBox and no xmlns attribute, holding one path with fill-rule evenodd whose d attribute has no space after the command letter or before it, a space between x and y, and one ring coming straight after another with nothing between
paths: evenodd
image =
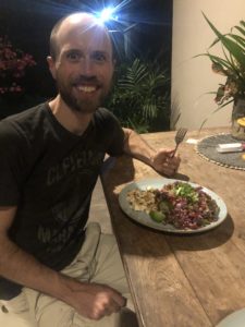
<instances>
[{"instance_id":1,"label":"faded lettering and crest print on man's dark t-shirt","mask_svg":"<svg viewBox=\"0 0 245 327\"><path fill-rule=\"evenodd\" d=\"M50 209L52 223L39 223L37 229L38 241L46 245L48 253L60 252L82 233L90 203L88 190L93 186L88 183L96 181L103 156L103 153L76 150L48 170L47 185L62 185L61 194L58 192L56 204Z\"/></svg>"}]
</instances>

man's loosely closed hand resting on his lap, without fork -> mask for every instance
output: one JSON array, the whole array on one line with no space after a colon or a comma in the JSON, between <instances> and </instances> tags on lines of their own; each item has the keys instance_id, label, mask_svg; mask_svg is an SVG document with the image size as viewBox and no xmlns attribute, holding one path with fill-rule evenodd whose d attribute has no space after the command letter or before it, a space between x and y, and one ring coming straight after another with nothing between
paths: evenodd
<instances>
[{"instance_id":1,"label":"man's loosely closed hand resting on his lap, without fork","mask_svg":"<svg viewBox=\"0 0 245 327\"><path fill-rule=\"evenodd\" d=\"M126 305L126 299L108 286L84 283L70 278L66 282L71 292L64 301L86 318L98 320Z\"/></svg>"}]
</instances>

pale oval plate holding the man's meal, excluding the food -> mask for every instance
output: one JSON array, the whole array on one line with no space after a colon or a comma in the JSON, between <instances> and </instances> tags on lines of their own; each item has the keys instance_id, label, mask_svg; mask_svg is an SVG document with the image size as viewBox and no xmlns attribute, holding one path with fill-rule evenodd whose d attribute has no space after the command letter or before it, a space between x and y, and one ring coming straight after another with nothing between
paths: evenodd
<instances>
[{"instance_id":1,"label":"pale oval plate holding the man's meal, excluding the food","mask_svg":"<svg viewBox=\"0 0 245 327\"><path fill-rule=\"evenodd\" d=\"M217 195L215 192L212 192L206 187L203 187L203 186L201 186L203 191L206 192L207 194L209 194L211 196L211 198L216 201L217 205L220 208L220 213L219 213L219 217L218 217L217 221L213 221L213 222L211 222L205 227L200 227L198 229L176 229L172 225L158 223L158 222L154 221L149 217L148 214L146 214L144 211L133 210L126 199L126 194L128 193L128 191L132 191L134 189L146 190L148 186L154 187L154 189L161 189L163 185L174 183L176 181L182 182L180 180L157 178L157 179L145 179L139 182L130 183L120 192L119 204L120 204L122 210L128 217L131 217L133 220L135 220L142 225L145 225L147 227L150 227L150 228L154 228L157 230L171 232L171 233L182 233L183 234L183 233L204 232L204 231L216 228L218 225L220 225L226 218L228 210L226 210L226 206L225 206L224 202L222 201L222 198L219 195ZM189 182L185 182L185 183L188 183L192 186L200 186L195 183L189 183Z\"/></svg>"}]
</instances>

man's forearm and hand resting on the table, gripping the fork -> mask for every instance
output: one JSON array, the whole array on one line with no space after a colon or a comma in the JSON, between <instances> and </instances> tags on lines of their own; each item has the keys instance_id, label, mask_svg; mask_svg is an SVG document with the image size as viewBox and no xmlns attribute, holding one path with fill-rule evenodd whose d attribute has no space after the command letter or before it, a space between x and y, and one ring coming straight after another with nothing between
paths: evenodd
<instances>
[{"instance_id":1,"label":"man's forearm and hand resting on the table, gripping the fork","mask_svg":"<svg viewBox=\"0 0 245 327\"><path fill-rule=\"evenodd\" d=\"M176 172L181 159L173 155L173 149L161 148L156 150L143 140L143 137L131 129L124 131L124 153L151 166L161 174L172 175Z\"/></svg>"}]
</instances>

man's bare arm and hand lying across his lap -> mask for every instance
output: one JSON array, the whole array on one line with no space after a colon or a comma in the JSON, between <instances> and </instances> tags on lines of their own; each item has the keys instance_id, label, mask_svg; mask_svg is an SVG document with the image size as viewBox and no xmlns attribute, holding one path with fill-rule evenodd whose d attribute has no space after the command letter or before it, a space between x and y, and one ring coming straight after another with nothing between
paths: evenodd
<instances>
[{"instance_id":1,"label":"man's bare arm and hand lying across his lap","mask_svg":"<svg viewBox=\"0 0 245 327\"><path fill-rule=\"evenodd\" d=\"M96 283L79 282L57 272L35 259L8 237L16 207L0 207L0 275L20 284L49 294L73 306L90 319L118 312L125 299L115 290Z\"/></svg>"}]
</instances>

